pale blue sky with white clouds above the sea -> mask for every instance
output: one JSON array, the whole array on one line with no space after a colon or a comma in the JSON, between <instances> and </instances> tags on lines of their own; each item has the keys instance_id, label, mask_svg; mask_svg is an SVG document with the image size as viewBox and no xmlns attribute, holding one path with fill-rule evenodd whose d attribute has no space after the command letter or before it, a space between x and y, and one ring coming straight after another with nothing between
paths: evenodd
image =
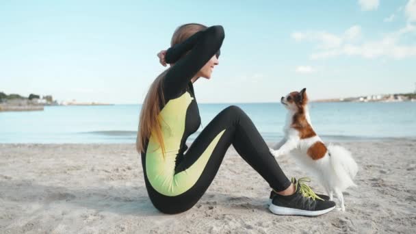
<instances>
[{"instance_id":1,"label":"pale blue sky with white clouds above the sea","mask_svg":"<svg viewBox=\"0 0 416 234\"><path fill-rule=\"evenodd\" d=\"M0 92L142 103L183 23L222 25L198 103L416 89L416 0L0 1Z\"/></svg>"}]
</instances>

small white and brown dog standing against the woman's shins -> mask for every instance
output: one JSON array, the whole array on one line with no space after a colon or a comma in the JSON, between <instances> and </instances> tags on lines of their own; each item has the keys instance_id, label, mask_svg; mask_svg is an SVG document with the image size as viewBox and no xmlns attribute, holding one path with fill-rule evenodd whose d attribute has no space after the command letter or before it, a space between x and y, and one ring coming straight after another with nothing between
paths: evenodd
<instances>
[{"instance_id":1,"label":"small white and brown dog standing against the woman's shins","mask_svg":"<svg viewBox=\"0 0 416 234\"><path fill-rule=\"evenodd\" d=\"M300 166L317 177L330 200L333 200L335 193L341 203L340 209L345 211L342 192L347 187L355 186L352 179L358 171L351 153L341 146L326 147L313 131L306 88L282 96L281 103L289 111L284 128L285 138L273 147L276 151L270 148L270 152L274 157L290 153Z\"/></svg>"}]
</instances>

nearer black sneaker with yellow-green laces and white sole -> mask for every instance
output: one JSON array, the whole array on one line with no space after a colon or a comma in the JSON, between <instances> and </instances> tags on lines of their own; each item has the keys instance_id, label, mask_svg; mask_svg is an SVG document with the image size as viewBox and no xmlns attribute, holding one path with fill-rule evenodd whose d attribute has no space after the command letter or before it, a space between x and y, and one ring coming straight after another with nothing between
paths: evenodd
<instances>
[{"instance_id":1,"label":"nearer black sneaker with yellow-green laces and white sole","mask_svg":"<svg viewBox=\"0 0 416 234\"><path fill-rule=\"evenodd\" d=\"M320 216L335 208L332 200L323 200L313 196L306 184L294 183L296 192L289 196L274 194L269 209L272 213L285 216Z\"/></svg>"}]
</instances>

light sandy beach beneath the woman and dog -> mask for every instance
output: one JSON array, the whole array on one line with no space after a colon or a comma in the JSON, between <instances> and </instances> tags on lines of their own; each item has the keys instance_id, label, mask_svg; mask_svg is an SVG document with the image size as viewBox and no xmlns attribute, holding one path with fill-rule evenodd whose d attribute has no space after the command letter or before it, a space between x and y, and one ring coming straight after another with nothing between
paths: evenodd
<instances>
[{"instance_id":1,"label":"light sandy beach beneath the woman and dog","mask_svg":"<svg viewBox=\"0 0 416 234\"><path fill-rule=\"evenodd\" d=\"M359 186L344 194L345 212L307 218L270 213L268 184L232 147L203 198L165 215L133 144L0 144L0 233L415 233L416 140L341 145ZM278 162L307 176L289 157Z\"/></svg>"}]
</instances>

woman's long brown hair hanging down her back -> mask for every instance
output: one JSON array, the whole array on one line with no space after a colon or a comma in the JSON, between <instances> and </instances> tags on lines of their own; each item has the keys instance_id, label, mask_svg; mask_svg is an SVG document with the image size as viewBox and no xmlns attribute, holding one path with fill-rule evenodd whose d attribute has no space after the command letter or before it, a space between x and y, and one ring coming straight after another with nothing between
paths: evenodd
<instances>
[{"instance_id":1,"label":"woman's long brown hair hanging down her back","mask_svg":"<svg viewBox=\"0 0 416 234\"><path fill-rule=\"evenodd\" d=\"M172 47L175 44L179 44L194 35L197 31L206 28L205 25L200 25L198 23L181 25L174 31L170 46ZM138 137L136 139L136 149L139 153L144 153L146 151L146 140L153 135L153 138L155 138L161 147L162 154L165 156L164 138L161 131L161 122L163 119L159 116L161 111L159 103L161 103L162 106L166 104L162 90L169 87L162 87L161 81L164 79L166 73L168 73L168 70L169 68L156 77L143 101L142 109L140 111Z\"/></svg>"}]
</instances>

